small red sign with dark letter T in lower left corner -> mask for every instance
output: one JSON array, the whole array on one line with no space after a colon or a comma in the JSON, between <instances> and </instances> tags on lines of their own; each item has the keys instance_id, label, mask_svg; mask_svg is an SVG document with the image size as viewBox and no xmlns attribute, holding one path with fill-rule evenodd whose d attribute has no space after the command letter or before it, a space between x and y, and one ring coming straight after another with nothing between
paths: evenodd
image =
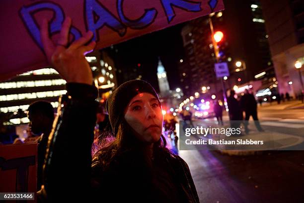
<instances>
[{"instance_id":1,"label":"small red sign with dark letter T in lower left corner","mask_svg":"<svg viewBox=\"0 0 304 203\"><path fill-rule=\"evenodd\" d=\"M0 193L36 193L37 143L0 145Z\"/></svg>"}]
</instances>

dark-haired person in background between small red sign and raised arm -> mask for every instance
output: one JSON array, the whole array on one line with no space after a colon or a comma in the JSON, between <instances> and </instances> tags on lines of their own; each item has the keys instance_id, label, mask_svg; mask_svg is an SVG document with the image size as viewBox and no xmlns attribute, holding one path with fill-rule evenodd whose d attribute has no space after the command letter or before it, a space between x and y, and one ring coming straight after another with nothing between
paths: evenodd
<instances>
[{"instance_id":1,"label":"dark-haired person in background between small red sign and raised arm","mask_svg":"<svg viewBox=\"0 0 304 203\"><path fill-rule=\"evenodd\" d=\"M29 128L28 137L24 141L17 138L14 144L19 143L38 143L37 154L37 189L40 190L42 185L42 171L44 158L48 143L48 137L51 133L54 121L54 108L50 102L37 101L29 105L27 109Z\"/></svg>"}]
</instances>

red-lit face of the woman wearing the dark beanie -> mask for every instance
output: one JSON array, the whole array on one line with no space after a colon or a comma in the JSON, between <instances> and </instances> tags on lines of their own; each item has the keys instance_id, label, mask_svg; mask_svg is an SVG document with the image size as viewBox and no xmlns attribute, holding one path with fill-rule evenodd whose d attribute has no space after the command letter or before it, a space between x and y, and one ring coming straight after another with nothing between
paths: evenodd
<instances>
[{"instance_id":1,"label":"red-lit face of the woman wearing the dark beanie","mask_svg":"<svg viewBox=\"0 0 304 203\"><path fill-rule=\"evenodd\" d=\"M159 140L162 132L162 109L158 100L149 93L135 96L125 109L127 123L143 142L154 143Z\"/></svg>"}]
</instances>

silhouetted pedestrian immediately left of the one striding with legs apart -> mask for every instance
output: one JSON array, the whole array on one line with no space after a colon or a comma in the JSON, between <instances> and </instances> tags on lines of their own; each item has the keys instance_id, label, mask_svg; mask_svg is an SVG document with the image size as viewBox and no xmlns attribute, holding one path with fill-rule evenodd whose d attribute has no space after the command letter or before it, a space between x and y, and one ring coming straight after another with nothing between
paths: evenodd
<instances>
[{"instance_id":1,"label":"silhouetted pedestrian immediately left of the one striding with legs apart","mask_svg":"<svg viewBox=\"0 0 304 203\"><path fill-rule=\"evenodd\" d=\"M229 117L230 117L230 126L233 128L239 128L243 120L242 111L239 106L239 102L234 98L234 90L230 91L230 95L227 99Z\"/></svg>"}]
</instances>

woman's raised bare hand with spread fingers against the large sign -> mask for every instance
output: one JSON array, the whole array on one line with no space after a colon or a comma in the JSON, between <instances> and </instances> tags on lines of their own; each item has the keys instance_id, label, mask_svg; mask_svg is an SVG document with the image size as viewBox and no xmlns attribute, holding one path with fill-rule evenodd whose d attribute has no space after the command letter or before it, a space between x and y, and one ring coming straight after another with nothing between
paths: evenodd
<instances>
[{"instance_id":1,"label":"woman's raised bare hand with spread fingers against the large sign","mask_svg":"<svg viewBox=\"0 0 304 203\"><path fill-rule=\"evenodd\" d=\"M92 85L92 72L84 55L93 51L96 45L94 41L85 45L90 41L93 33L88 31L68 46L71 24L71 18L67 17L63 22L59 39L57 43L54 43L49 36L48 22L45 19L43 20L40 33L46 57L50 65L57 70L68 83L74 82Z\"/></svg>"}]
</instances>

